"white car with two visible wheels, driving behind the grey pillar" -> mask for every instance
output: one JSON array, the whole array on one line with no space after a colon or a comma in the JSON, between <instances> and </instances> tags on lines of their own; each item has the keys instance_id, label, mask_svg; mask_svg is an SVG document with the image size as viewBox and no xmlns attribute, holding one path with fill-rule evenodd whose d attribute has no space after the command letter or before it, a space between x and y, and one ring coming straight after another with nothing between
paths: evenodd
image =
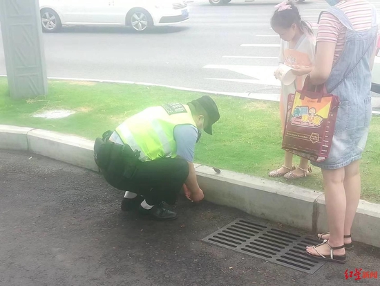
<instances>
[{"instance_id":1,"label":"white car with two visible wheels, driving behind the grey pillar","mask_svg":"<svg viewBox=\"0 0 380 286\"><path fill-rule=\"evenodd\" d=\"M139 32L189 19L182 0L39 0L44 32L62 26L129 26Z\"/></svg>"}]
</instances>

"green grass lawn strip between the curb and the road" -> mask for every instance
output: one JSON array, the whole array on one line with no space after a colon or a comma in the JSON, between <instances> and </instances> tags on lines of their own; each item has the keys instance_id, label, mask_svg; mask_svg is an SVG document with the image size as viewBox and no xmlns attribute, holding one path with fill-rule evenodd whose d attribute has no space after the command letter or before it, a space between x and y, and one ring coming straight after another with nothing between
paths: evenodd
<instances>
[{"instance_id":1,"label":"green grass lawn strip between the curb and the road","mask_svg":"<svg viewBox=\"0 0 380 286\"><path fill-rule=\"evenodd\" d=\"M145 107L165 102L187 103L202 95L134 84L50 81L48 96L12 100L8 96L6 78L0 78L0 123L95 139ZM213 127L214 135L202 136L197 145L196 162L267 178L270 170L283 163L278 103L229 96L213 96L213 99L221 117ZM37 112L54 109L70 109L76 113L61 119L32 117ZM362 198L380 202L380 117L372 119L361 173ZM310 177L289 184L323 190L321 170L313 168Z\"/></svg>"}]
</instances>

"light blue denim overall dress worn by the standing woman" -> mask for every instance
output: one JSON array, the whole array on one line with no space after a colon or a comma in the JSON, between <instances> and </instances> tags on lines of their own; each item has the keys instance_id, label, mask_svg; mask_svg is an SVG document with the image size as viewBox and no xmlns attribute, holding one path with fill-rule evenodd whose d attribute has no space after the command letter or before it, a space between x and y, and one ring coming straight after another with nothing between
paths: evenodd
<instances>
[{"instance_id":1,"label":"light blue denim overall dress worn by the standing woman","mask_svg":"<svg viewBox=\"0 0 380 286\"><path fill-rule=\"evenodd\" d=\"M372 116L370 60L376 47L377 15L372 8L372 28L355 31L350 19L336 7L326 12L334 15L345 28L345 46L325 82L327 92L339 96L340 104L329 157L320 163L322 169L339 169L361 159Z\"/></svg>"}]
</instances>

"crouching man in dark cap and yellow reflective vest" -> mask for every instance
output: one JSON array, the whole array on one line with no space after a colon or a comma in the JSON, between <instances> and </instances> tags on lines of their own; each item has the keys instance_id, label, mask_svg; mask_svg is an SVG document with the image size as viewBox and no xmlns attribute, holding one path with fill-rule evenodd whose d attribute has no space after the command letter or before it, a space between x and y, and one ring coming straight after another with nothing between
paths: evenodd
<instances>
[{"instance_id":1,"label":"crouching man in dark cap and yellow reflective vest","mask_svg":"<svg viewBox=\"0 0 380 286\"><path fill-rule=\"evenodd\" d=\"M95 162L108 184L125 191L122 210L138 208L153 220L175 220L177 214L162 203L175 204L183 185L189 199L200 202L195 145L202 130L212 134L219 118L216 103L202 96L187 105L149 107L97 138Z\"/></svg>"}]
</instances>

